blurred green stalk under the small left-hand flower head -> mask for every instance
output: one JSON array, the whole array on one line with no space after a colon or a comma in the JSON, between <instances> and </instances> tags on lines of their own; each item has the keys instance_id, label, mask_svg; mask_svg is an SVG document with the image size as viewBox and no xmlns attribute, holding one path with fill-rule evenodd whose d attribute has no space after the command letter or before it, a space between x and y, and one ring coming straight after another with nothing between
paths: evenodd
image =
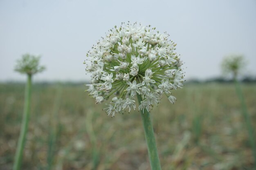
<instances>
[{"instance_id":1,"label":"blurred green stalk under the small left-hand flower head","mask_svg":"<svg viewBox=\"0 0 256 170\"><path fill-rule=\"evenodd\" d=\"M31 102L31 78L32 76L28 74L27 84L25 89L25 103L24 103L24 112L22 117L22 124L20 130L20 137L18 140L18 146L15 153L13 170L19 170L22 161L22 153L25 146L25 139L27 134L28 122L29 122L29 113L30 113L30 102Z\"/></svg>"}]
</instances>

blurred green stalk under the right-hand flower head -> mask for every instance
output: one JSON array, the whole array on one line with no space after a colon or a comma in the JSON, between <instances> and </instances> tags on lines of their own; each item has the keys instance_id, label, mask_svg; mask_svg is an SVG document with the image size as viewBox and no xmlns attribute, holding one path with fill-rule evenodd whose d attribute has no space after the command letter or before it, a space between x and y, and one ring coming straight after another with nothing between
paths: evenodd
<instances>
[{"instance_id":1,"label":"blurred green stalk under the right-hand flower head","mask_svg":"<svg viewBox=\"0 0 256 170\"><path fill-rule=\"evenodd\" d=\"M243 93L242 93L240 84L236 79L235 79L235 83L236 83L236 93L237 93L238 98L240 100L240 103L242 105L242 114L243 114L243 117L245 119L245 124L246 124L248 135L249 135L249 142L251 144L252 153L253 153L253 156L254 156L254 166L255 166L254 169L256 170L256 139L255 139L255 135L254 135L255 134L254 133L254 128L252 126L252 122L250 120L249 113L247 111L247 107L246 107L246 104L245 104L245 99L243 97Z\"/></svg>"}]
</instances>

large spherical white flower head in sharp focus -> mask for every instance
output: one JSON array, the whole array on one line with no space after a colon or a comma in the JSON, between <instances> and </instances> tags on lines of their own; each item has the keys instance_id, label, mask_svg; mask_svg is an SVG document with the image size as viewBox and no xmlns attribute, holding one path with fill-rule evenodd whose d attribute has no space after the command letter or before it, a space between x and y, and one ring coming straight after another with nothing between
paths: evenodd
<instances>
[{"instance_id":1,"label":"large spherical white flower head in sharp focus","mask_svg":"<svg viewBox=\"0 0 256 170\"><path fill-rule=\"evenodd\" d=\"M88 51L84 63L92 79L87 91L97 104L115 95L105 108L108 115L135 110L136 95L143 99L137 107L143 112L158 104L162 95L174 104L171 90L182 88L184 74L176 44L168 36L150 25L122 23Z\"/></svg>"}]
</instances>

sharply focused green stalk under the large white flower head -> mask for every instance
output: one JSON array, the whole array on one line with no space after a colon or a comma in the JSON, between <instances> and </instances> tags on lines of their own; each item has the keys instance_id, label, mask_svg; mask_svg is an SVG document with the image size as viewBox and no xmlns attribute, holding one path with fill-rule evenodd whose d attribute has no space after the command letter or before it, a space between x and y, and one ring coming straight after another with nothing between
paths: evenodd
<instances>
[{"instance_id":1,"label":"sharply focused green stalk under the large white flower head","mask_svg":"<svg viewBox=\"0 0 256 170\"><path fill-rule=\"evenodd\" d=\"M141 95L137 94L138 102L142 101ZM143 121L144 126L144 132L146 137L146 142L148 146L148 155L149 155L149 161L151 170L161 170L160 161L157 153L157 146L155 142L155 135L154 130L150 118L150 113L147 110L143 111L141 110L141 118Z\"/></svg>"}]
</instances>

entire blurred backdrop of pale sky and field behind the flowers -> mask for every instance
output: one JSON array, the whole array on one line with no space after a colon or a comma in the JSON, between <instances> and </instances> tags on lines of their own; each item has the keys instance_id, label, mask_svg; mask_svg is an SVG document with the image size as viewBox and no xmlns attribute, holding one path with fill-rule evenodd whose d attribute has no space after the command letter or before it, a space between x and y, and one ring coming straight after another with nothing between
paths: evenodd
<instances>
[{"instance_id":1,"label":"entire blurred backdrop of pale sky and field behind the flowers","mask_svg":"<svg viewBox=\"0 0 256 170\"><path fill-rule=\"evenodd\" d=\"M221 62L243 55L238 79L256 128L256 1L0 0L0 170L10 170L22 120L24 53L41 55L34 76L22 168L149 170L138 112L108 117L84 92L83 61L93 44L121 22L166 31L184 61L185 86L153 110L163 170L250 170L256 167L231 76ZM255 132L254 132L255 135Z\"/></svg>"}]
</instances>

